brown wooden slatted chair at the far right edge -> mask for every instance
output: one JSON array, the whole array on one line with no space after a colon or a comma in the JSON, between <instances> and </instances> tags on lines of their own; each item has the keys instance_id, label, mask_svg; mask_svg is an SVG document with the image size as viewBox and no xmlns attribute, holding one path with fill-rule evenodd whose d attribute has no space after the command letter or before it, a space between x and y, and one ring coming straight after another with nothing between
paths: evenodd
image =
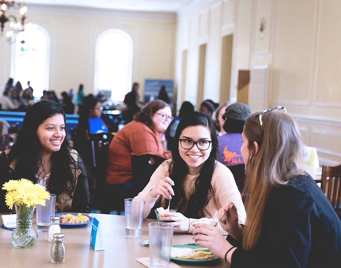
<instances>
[{"instance_id":1,"label":"brown wooden slatted chair at the far right edge","mask_svg":"<svg viewBox=\"0 0 341 268\"><path fill-rule=\"evenodd\" d=\"M321 189L341 219L341 163L322 166Z\"/></svg>"}]
</instances>

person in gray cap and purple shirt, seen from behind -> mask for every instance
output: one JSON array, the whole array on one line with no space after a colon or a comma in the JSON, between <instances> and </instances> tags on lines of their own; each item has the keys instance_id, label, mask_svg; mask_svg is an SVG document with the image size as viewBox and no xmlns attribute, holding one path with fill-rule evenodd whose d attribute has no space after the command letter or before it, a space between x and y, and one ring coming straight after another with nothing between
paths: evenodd
<instances>
[{"instance_id":1,"label":"person in gray cap and purple shirt, seen from behind","mask_svg":"<svg viewBox=\"0 0 341 268\"><path fill-rule=\"evenodd\" d=\"M225 109L223 119L226 119L223 129L226 134L218 137L218 161L231 170L239 190L242 190L244 180L244 161L241 156L241 133L244 122L251 114L251 108L244 103L233 103Z\"/></svg>"}]
</instances>

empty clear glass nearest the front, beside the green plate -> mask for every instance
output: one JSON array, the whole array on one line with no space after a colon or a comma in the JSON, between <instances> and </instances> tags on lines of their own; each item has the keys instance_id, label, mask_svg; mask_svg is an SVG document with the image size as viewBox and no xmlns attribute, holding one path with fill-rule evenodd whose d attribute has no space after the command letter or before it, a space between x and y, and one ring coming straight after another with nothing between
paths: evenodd
<instances>
[{"instance_id":1,"label":"empty clear glass nearest the front, beside the green plate","mask_svg":"<svg viewBox=\"0 0 341 268\"><path fill-rule=\"evenodd\" d=\"M148 224L148 228L150 268L168 268L174 225L152 222Z\"/></svg>"}]
</instances>

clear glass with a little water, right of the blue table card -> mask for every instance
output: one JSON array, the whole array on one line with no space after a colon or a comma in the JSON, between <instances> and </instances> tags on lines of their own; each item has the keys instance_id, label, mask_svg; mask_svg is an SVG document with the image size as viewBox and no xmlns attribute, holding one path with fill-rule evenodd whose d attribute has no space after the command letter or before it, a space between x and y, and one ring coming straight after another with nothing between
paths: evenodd
<instances>
[{"instance_id":1,"label":"clear glass with a little water, right of the blue table card","mask_svg":"<svg viewBox=\"0 0 341 268\"><path fill-rule=\"evenodd\" d=\"M143 214L145 200L128 198L124 199L125 236L140 238L142 236Z\"/></svg>"}]
</instances>

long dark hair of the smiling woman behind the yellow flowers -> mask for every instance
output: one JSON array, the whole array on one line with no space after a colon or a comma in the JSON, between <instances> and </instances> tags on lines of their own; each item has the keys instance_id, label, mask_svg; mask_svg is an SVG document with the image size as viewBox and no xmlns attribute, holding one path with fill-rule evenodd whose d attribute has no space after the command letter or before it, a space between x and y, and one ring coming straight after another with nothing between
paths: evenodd
<instances>
[{"instance_id":1,"label":"long dark hair of the smiling woman behind the yellow flowers","mask_svg":"<svg viewBox=\"0 0 341 268\"><path fill-rule=\"evenodd\" d=\"M41 123L54 115L62 115L64 122L66 122L62 106L51 100L41 100L33 104L26 112L23 127L17 136L17 142L8 154L8 163L17 160L14 172L16 179L25 178L34 183L37 182L35 175L38 174L39 168L43 167L43 158L36 131ZM70 198L73 198L73 192L76 188L73 177L78 165L71 157L70 149L68 133L65 128L65 138L60 150L51 155L51 175L46 188L50 193L56 195L66 191ZM45 172L45 170L43 171Z\"/></svg>"}]
</instances>

